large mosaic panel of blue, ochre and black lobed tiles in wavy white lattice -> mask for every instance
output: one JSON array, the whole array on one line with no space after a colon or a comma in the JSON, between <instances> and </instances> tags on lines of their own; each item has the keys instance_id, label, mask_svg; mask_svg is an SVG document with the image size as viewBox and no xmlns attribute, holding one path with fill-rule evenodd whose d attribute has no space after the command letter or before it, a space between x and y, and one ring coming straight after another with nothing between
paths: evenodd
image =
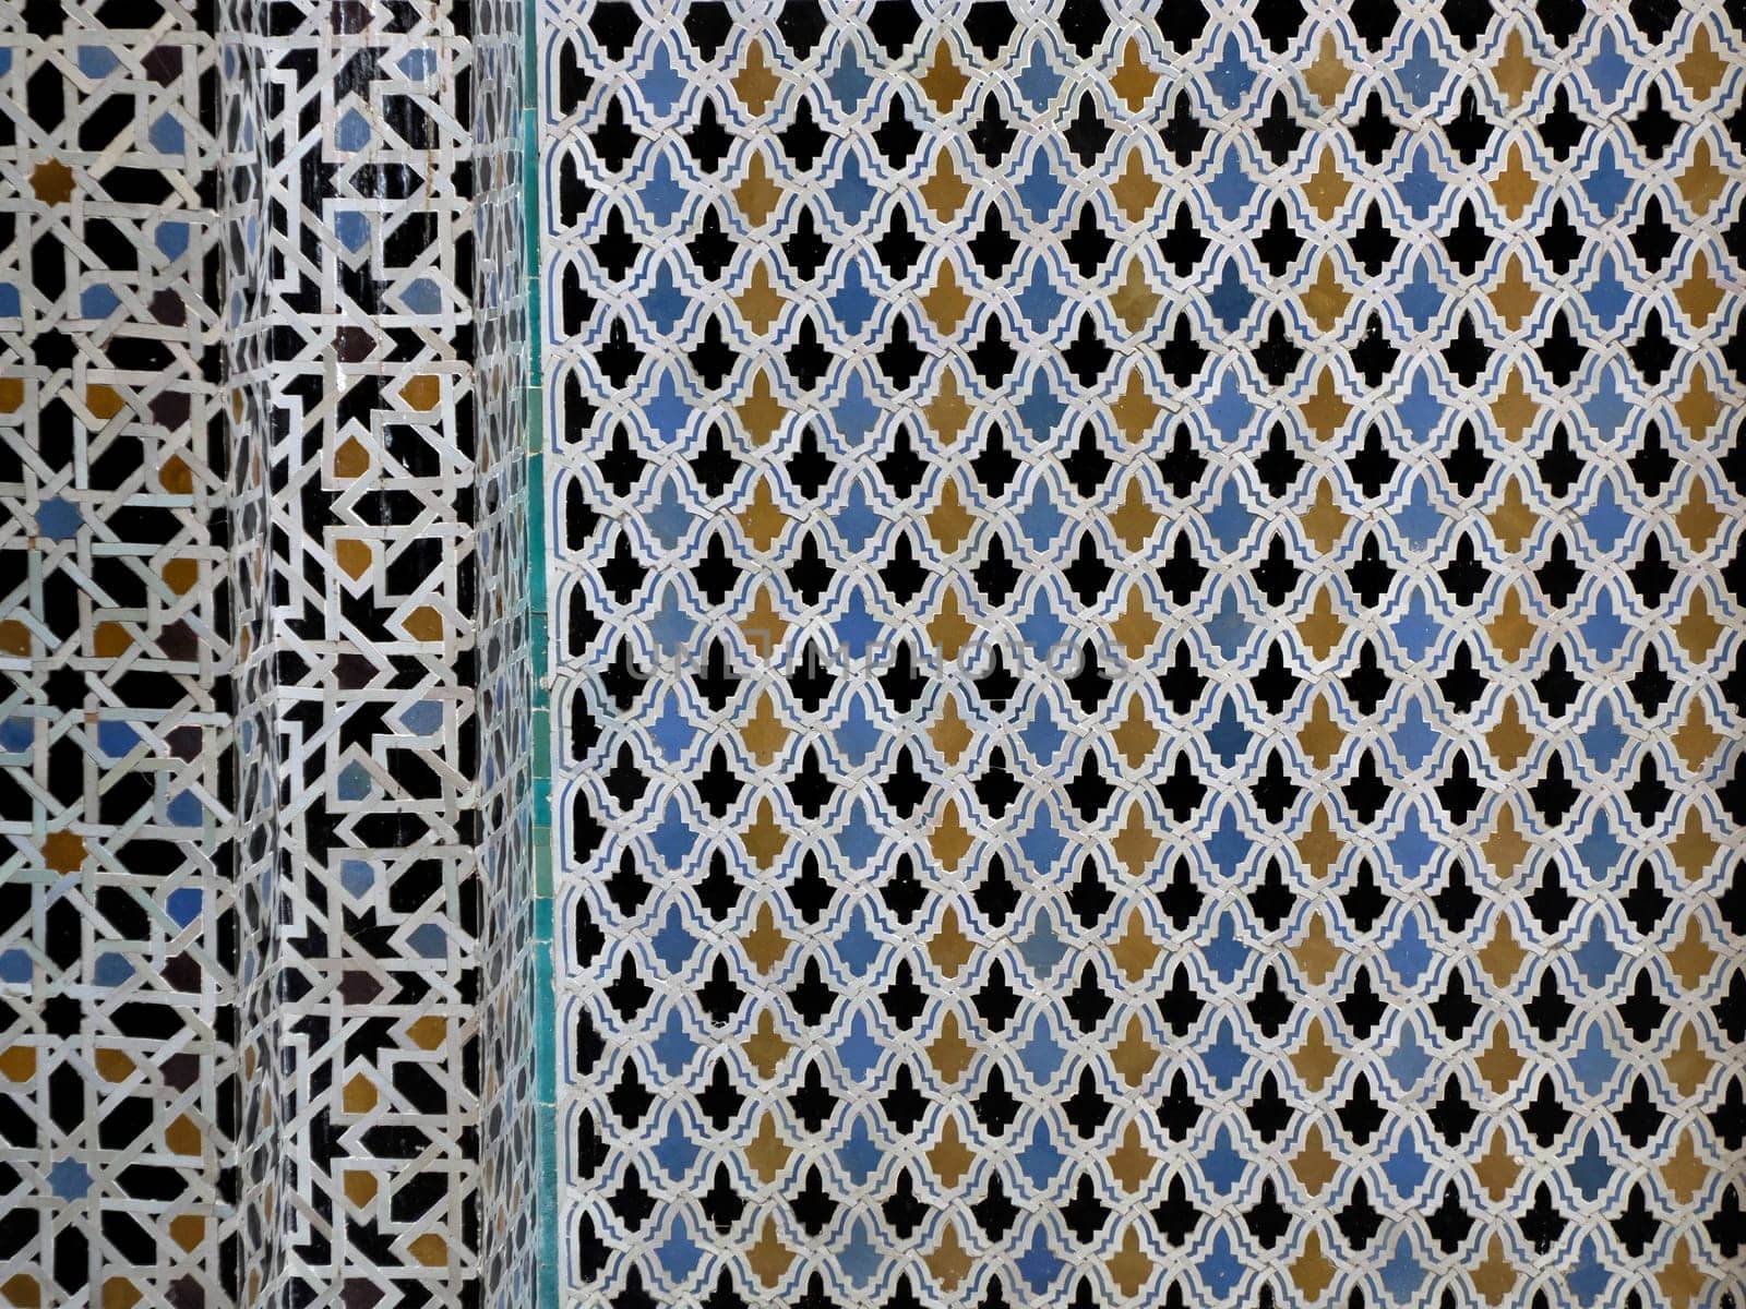
<instances>
[{"instance_id":1,"label":"large mosaic panel of blue, ochre and black lobed tiles in wavy white lattice","mask_svg":"<svg viewBox=\"0 0 1746 1309\"><path fill-rule=\"evenodd\" d=\"M1156 9L540 7L566 1304L1741 1302L1743 14Z\"/></svg>"}]
</instances>

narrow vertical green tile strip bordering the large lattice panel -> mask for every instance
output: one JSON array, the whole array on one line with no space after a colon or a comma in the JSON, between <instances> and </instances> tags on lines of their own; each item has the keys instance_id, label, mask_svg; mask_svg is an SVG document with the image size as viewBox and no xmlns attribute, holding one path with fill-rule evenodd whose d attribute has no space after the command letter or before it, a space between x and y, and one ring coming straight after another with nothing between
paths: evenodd
<instances>
[{"instance_id":1,"label":"narrow vertical green tile strip bordering the large lattice panel","mask_svg":"<svg viewBox=\"0 0 1746 1309\"><path fill-rule=\"evenodd\" d=\"M522 223L527 229L527 597L533 672L534 1157L538 1304L557 1309L557 993L552 976L552 707L546 698L545 377L540 312L540 0L522 9Z\"/></svg>"}]
</instances>

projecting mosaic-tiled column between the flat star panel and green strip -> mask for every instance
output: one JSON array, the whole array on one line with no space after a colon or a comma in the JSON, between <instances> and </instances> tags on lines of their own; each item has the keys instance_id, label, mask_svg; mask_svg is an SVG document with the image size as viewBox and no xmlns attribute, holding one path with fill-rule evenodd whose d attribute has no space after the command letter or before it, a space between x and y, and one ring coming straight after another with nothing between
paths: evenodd
<instances>
[{"instance_id":1,"label":"projecting mosaic-tiled column between the flat star panel and green strip","mask_svg":"<svg viewBox=\"0 0 1746 1309\"><path fill-rule=\"evenodd\" d=\"M250 1304L529 1300L520 61L501 0L225 33L278 777Z\"/></svg>"}]
</instances>

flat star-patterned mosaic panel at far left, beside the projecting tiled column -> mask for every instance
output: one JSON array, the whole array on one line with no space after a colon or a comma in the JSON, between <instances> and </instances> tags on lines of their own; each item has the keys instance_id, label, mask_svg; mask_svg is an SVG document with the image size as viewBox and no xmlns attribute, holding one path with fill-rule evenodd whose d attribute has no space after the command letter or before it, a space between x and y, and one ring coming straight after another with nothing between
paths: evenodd
<instances>
[{"instance_id":1,"label":"flat star-patterned mosaic panel at far left, beside the projecting tiled column","mask_svg":"<svg viewBox=\"0 0 1746 1309\"><path fill-rule=\"evenodd\" d=\"M217 40L0 7L0 1300L234 1295Z\"/></svg>"}]
</instances>

